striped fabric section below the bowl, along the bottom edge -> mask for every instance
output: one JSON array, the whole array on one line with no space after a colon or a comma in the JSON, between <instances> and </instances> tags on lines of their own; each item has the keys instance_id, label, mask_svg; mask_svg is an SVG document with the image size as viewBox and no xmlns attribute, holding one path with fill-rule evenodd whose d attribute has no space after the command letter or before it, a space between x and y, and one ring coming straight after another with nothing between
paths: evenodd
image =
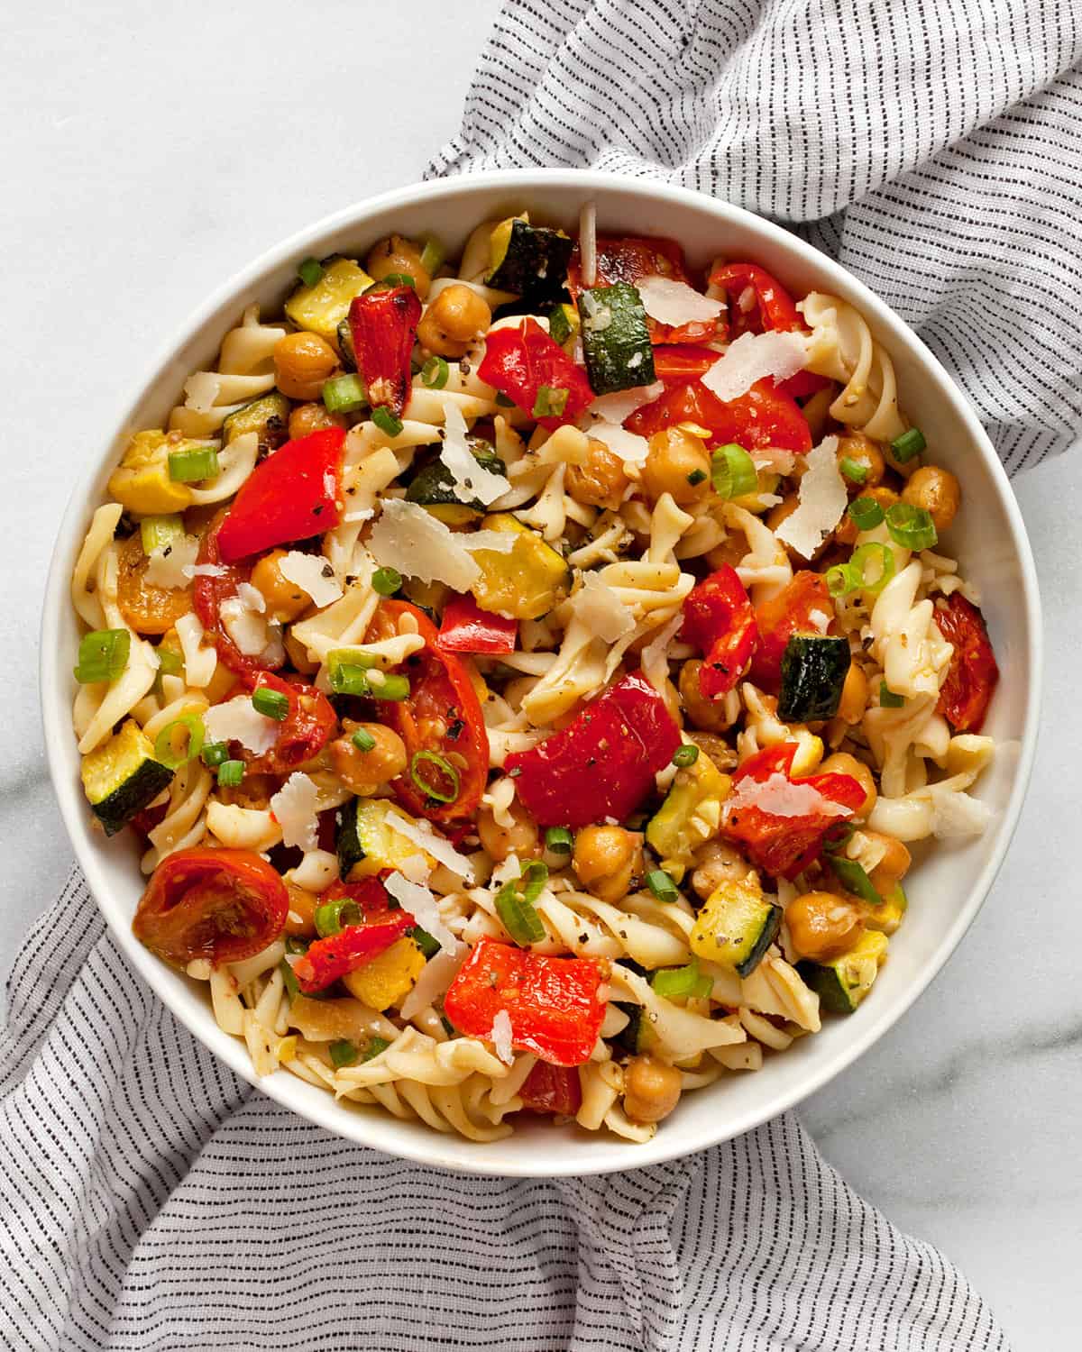
<instances>
[{"instance_id":1,"label":"striped fabric section below the bowl, along the bottom edge","mask_svg":"<svg viewBox=\"0 0 1082 1352\"><path fill-rule=\"evenodd\" d=\"M77 873L11 979L0 1249L0 1345L19 1352L1006 1349L791 1115L555 1182L310 1126L165 1011Z\"/></svg>"}]
</instances>

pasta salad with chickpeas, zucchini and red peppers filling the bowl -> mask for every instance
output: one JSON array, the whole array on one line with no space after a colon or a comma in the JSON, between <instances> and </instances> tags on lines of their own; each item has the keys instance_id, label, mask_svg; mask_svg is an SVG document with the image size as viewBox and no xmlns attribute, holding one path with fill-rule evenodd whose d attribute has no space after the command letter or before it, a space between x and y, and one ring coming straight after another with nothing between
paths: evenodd
<instances>
[{"instance_id":1,"label":"pasta salad with chickpeas, zucchini and red peppers filling the bowl","mask_svg":"<svg viewBox=\"0 0 1082 1352\"><path fill-rule=\"evenodd\" d=\"M254 1069L648 1140L851 1014L977 834L962 502L839 296L523 212L307 258L76 562L133 929Z\"/></svg>"}]
</instances>

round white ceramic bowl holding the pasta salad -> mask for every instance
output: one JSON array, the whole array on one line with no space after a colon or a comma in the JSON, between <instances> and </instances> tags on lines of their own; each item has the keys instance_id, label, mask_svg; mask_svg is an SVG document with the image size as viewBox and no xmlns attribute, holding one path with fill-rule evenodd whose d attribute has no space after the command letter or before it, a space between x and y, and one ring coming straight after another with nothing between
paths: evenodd
<instances>
[{"instance_id":1,"label":"round white ceramic bowl holding the pasta salad","mask_svg":"<svg viewBox=\"0 0 1082 1352\"><path fill-rule=\"evenodd\" d=\"M687 1155L757 1126L825 1084L880 1037L920 995L972 922L1004 859L1029 777L1037 727L1041 630L1033 560L999 461L974 412L917 337L862 283L799 239L757 216L680 188L615 174L536 170L479 173L385 193L302 231L264 254L202 304L151 368L134 399L104 430L61 526L42 622L41 690L57 796L91 891L135 971L183 1023L238 1075L256 1083L242 1041L222 1033L206 986L168 968L130 930L142 891L134 841L105 842L91 830L72 734L72 667L78 642L69 577L92 510L126 437L161 426L187 376L211 362L226 330L256 300L280 312L296 262L335 250L364 253L380 235L436 233L452 256L477 222L527 208L536 219L573 227L580 206L598 204L598 227L679 239L692 265L714 254L751 258L798 295L834 292L852 301L894 358L903 407L928 437L937 462L962 480L964 508L947 542L983 596L1002 671L986 731L997 760L978 792L994 810L977 841L928 850L910 876L910 910L891 942L871 996L845 1019L772 1057L755 1075L733 1075L690 1094L646 1145L599 1133L527 1122L491 1145L442 1136L377 1109L338 1105L285 1071L258 1082L265 1094L349 1140L427 1164L479 1174L576 1175L634 1168Z\"/></svg>"}]
</instances>

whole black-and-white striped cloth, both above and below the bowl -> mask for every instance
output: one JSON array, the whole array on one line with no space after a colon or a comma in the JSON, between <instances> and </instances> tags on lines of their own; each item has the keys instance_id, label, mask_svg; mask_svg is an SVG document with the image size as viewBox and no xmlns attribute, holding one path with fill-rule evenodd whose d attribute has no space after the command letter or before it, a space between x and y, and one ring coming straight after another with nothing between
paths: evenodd
<instances>
[{"instance_id":1,"label":"whole black-and-white striped cloth, both above and below the bowl","mask_svg":"<svg viewBox=\"0 0 1082 1352\"><path fill-rule=\"evenodd\" d=\"M1017 469L1082 418L1079 28L1073 0L511 0L429 173L588 164L791 224L922 333ZM35 1352L1006 1349L793 1117L556 1182L310 1126L173 1021L77 873L9 987L0 1248L0 1343Z\"/></svg>"}]
</instances>

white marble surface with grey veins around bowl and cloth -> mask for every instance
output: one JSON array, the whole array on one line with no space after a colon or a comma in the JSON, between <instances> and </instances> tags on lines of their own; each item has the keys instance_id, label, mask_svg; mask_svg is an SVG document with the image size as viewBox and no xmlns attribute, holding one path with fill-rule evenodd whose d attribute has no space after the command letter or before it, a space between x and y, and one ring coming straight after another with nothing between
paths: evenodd
<instances>
[{"instance_id":1,"label":"white marble surface with grey veins around bowl and cloth","mask_svg":"<svg viewBox=\"0 0 1082 1352\"><path fill-rule=\"evenodd\" d=\"M0 73L7 326L0 614L0 968L70 860L37 699L38 612L84 446L192 306L253 254L419 176L450 135L496 0L402 8L60 0L8 12ZM1045 603L1033 788L968 938L856 1067L805 1105L828 1157L940 1244L1020 1352L1078 1336L1082 452L1017 483ZM1066 1338L1066 1340L1064 1340Z\"/></svg>"}]
</instances>

